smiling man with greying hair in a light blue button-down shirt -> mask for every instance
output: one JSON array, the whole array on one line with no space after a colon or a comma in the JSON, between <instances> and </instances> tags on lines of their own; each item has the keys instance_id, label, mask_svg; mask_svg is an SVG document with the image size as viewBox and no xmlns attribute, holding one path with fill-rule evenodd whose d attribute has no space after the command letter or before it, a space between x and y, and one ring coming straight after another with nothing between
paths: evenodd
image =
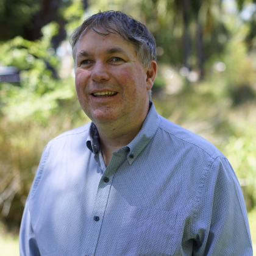
<instances>
[{"instance_id":1,"label":"smiling man with greying hair in a light blue button-down shirt","mask_svg":"<svg viewBox=\"0 0 256 256\"><path fill-rule=\"evenodd\" d=\"M226 157L157 115L155 40L121 12L71 35L77 98L92 123L50 141L29 193L21 255L252 255Z\"/></svg>"}]
</instances>

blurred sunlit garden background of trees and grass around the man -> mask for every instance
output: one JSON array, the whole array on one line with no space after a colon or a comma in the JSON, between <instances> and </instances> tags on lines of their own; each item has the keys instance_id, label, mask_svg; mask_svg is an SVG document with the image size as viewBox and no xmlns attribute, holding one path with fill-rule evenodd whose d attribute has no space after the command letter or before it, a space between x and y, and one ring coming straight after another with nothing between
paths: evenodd
<instances>
[{"instance_id":1,"label":"blurred sunlit garden background of trees and grass around the man","mask_svg":"<svg viewBox=\"0 0 256 256\"><path fill-rule=\"evenodd\" d=\"M44 146L90 121L76 98L68 38L99 10L121 10L149 27L157 112L229 159L256 244L255 0L0 0L1 255L18 255Z\"/></svg>"}]
</instances>

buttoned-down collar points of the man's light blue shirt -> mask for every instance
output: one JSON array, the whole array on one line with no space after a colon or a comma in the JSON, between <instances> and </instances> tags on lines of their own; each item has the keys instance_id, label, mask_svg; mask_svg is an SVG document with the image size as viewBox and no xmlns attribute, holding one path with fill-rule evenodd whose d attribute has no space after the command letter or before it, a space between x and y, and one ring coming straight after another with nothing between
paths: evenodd
<instances>
[{"instance_id":1,"label":"buttoned-down collar points of the man's light blue shirt","mask_svg":"<svg viewBox=\"0 0 256 256\"><path fill-rule=\"evenodd\" d=\"M130 165L138 157L140 152L148 145L149 141L152 140L155 132L157 132L159 118L153 102L150 102L149 107L149 113L143 122L140 132L138 132L136 137L127 144L126 147L124 147L129 151L129 154L127 154L127 160ZM98 154L99 152L99 133L94 123L91 123L90 126L90 132L87 137L87 148L90 149L93 154ZM123 152L124 148L119 149L119 151ZM115 154L118 154L118 151L116 151Z\"/></svg>"}]
</instances>

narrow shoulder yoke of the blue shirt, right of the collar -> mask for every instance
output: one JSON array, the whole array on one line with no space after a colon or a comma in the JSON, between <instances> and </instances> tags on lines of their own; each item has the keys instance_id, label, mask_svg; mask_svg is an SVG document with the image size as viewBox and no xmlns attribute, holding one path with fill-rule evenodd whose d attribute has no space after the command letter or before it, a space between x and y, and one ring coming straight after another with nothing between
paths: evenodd
<instances>
[{"instance_id":1,"label":"narrow shoulder yoke of the blue shirt, right of the collar","mask_svg":"<svg viewBox=\"0 0 256 256\"><path fill-rule=\"evenodd\" d=\"M180 143L189 146L191 149L199 149L214 159L224 157L219 149L201 136L172 123L168 119L163 118L163 116L158 116L160 118L159 128L168 133L172 140L180 141Z\"/></svg>"}]
</instances>

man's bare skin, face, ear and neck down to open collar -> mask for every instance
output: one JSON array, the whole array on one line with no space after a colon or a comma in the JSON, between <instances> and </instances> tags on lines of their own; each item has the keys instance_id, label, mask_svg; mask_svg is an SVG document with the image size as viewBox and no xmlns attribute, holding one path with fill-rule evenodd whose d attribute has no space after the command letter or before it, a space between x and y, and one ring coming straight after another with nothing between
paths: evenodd
<instances>
[{"instance_id":1,"label":"man's bare skin, face, ear and neck down to open collar","mask_svg":"<svg viewBox=\"0 0 256 256\"><path fill-rule=\"evenodd\" d=\"M141 65L132 44L118 34L101 35L92 29L84 33L74 47L77 97L98 129L108 165L113 152L129 144L141 129L157 64L150 60Z\"/></svg>"}]
</instances>

